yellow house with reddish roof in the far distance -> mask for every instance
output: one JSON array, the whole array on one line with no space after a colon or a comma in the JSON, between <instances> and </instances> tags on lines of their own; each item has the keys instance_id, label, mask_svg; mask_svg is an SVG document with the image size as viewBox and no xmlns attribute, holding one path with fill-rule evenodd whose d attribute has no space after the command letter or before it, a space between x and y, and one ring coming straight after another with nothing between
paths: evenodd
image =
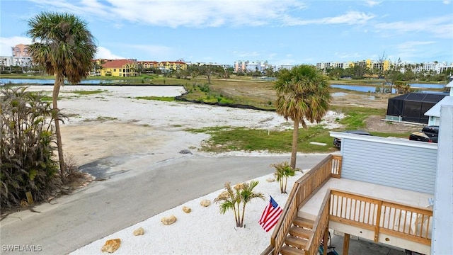
<instances>
[{"instance_id":1,"label":"yellow house with reddish roof in the far distance","mask_svg":"<svg viewBox=\"0 0 453 255\"><path fill-rule=\"evenodd\" d=\"M137 61L134 60L110 60L101 67L101 76L136 77L138 75Z\"/></svg>"}]
</instances>

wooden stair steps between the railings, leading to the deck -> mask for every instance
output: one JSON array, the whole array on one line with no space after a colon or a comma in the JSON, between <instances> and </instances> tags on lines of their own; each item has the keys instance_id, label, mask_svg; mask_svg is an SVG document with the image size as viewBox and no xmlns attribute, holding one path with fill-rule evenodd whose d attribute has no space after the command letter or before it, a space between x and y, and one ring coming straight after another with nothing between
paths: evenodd
<instances>
[{"instance_id":1,"label":"wooden stair steps between the railings, leading to the deck","mask_svg":"<svg viewBox=\"0 0 453 255\"><path fill-rule=\"evenodd\" d=\"M310 234L313 232L313 220L296 217L289 228L289 234L285 238L285 244L280 249L282 255L304 254Z\"/></svg>"}]
</instances>

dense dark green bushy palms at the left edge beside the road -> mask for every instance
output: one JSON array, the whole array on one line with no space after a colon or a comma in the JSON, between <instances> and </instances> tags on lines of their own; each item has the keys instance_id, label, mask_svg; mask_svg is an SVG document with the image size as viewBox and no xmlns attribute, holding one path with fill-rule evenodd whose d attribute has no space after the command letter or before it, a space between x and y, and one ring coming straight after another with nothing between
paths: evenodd
<instances>
[{"instance_id":1,"label":"dense dark green bushy palms at the left edge beside the road","mask_svg":"<svg viewBox=\"0 0 453 255\"><path fill-rule=\"evenodd\" d=\"M25 87L1 90L0 100L0 205L45 200L59 185L58 164L53 160L55 135L50 102ZM59 118L62 118L60 116Z\"/></svg>"}]
</instances>

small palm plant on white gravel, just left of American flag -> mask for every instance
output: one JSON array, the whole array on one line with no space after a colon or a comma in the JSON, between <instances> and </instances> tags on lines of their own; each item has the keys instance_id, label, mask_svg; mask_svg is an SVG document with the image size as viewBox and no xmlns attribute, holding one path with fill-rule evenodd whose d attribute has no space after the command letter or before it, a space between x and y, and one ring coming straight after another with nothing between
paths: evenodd
<instances>
[{"instance_id":1,"label":"small palm plant on white gravel, just left of American flag","mask_svg":"<svg viewBox=\"0 0 453 255\"><path fill-rule=\"evenodd\" d=\"M227 210L233 210L236 227L243 227L244 214L246 205L253 198L261 198L264 200L263 193L253 192L253 188L258 185L258 181L250 181L250 183L238 183L231 188L231 183L225 183L225 190L214 199L214 203L220 203L220 212L225 214ZM242 206L241 206L242 205ZM242 209L242 210L241 210Z\"/></svg>"}]
</instances>

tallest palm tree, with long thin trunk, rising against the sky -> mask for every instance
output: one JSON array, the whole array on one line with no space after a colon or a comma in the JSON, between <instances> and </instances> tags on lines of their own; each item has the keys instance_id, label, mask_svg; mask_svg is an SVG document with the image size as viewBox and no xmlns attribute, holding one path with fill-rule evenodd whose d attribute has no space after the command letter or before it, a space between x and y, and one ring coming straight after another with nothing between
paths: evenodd
<instances>
[{"instance_id":1,"label":"tallest palm tree, with long thin trunk, rising against the sky","mask_svg":"<svg viewBox=\"0 0 453 255\"><path fill-rule=\"evenodd\" d=\"M32 39L29 51L33 62L44 66L47 74L55 75L52 108L59 168L64 182L66 171L57 106L59 89L64 85L64 78L71 84L76 84L88 76L96 45L86 23L71 13L43 12L31 18L28 26L30 29L27 34Z\"/></svg>"}]
</instances>

